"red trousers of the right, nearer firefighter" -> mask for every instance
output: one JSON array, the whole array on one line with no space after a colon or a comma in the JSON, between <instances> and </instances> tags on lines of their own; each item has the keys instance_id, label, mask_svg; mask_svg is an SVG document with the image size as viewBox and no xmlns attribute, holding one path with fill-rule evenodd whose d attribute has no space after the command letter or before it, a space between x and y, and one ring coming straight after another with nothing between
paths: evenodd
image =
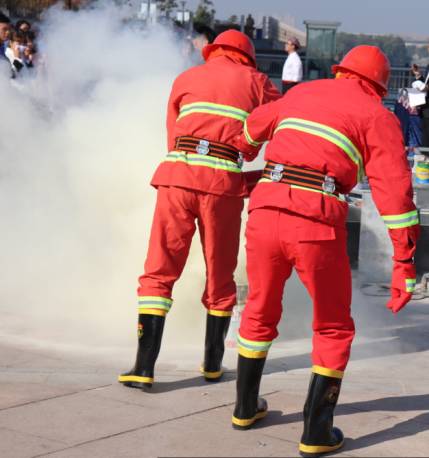
<instances>
[{"instance_id":1,"label":"red trousers of the right, nearer firefighter","mask_svg":"<svg viewBox=\"0 0 429 458\"><path fill-rule=\"evenodd\" d=\"M316 372L342 375L355 333L346 237L345 228L285 210L251 212L246 228L249 296L238 337L243 356L266 356L278 335L284 286L295 268L313 300Z\"/></svg>"}]
</instances>

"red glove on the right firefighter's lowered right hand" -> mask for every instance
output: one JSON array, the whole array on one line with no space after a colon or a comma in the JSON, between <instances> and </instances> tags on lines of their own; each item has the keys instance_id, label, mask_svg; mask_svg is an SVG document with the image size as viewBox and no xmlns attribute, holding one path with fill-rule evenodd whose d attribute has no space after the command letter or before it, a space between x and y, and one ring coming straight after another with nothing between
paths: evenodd
<instances>
[{"instance_id":1,"label":"red glove on the right firefighter's lowered right hand","mask_svg":"<svg viewBox=\"0 0 429 458\"><path fill-rule=\"evenodd\" d=\"M392 299L386 307L393 313L398 313L410 302L416 287L416 266L410 262L397 262L393 264L392 274Z\"/></svg>"}]
</instances>

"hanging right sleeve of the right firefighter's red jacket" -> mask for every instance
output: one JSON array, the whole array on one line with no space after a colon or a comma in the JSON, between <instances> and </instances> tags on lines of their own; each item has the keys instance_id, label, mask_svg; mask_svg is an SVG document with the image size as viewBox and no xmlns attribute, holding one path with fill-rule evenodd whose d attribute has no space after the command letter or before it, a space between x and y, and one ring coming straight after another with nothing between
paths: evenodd
<instances>
[{"instance_id":1,"label":"hanging right sleeve of the right firefighter's red jacket","mask_svg":"<svg viewBox=\"0 0 429 458\"><path fill-rule=\"evenodd\" d=\"M411 170L399 121L387 110L377 115L366 135L365 171L372 197L393 243L393 259L410 261L420 234L413 202Z\"/></svg>"}]
</instances>

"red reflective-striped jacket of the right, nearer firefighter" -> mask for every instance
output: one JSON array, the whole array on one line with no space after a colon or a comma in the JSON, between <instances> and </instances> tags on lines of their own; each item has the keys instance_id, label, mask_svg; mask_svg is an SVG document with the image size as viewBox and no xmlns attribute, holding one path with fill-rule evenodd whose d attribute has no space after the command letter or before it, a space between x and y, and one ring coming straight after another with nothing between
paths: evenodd
<instances>
[{"instance_id":1,"label":"red reflective-striped jacket of the right, nearer firefighter","mask_svg":"<svg viewBox=\"0 0 429 458\"><path fill-rule=\"evenodd\" d=\"M266 140L267 161L333 176L343 194L366 174L394 258L414 255L419 222L399 122L369 83L341 78L296 86L257 108L234 143L251 159ZM261 207L285 208L334 226L344 226L348 211L333 194L269 180L261 180L251 195L249 210Z\"/></svg>"}]
</instances>

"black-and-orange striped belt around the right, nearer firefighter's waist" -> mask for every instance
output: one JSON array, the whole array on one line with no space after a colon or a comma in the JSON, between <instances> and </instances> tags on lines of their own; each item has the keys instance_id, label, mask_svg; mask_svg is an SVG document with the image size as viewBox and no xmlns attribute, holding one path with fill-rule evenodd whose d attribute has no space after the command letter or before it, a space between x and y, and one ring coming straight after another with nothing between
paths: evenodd
<instances>
[{"instance_id":1,"label":"black-and-orange striped belt around the right, nearer firefighter's waist","mask_svg":"<svg viewBox=\"0 0 429 458\"><path fill-rule=\"evenodd\" d=\"M302 186L316 191L328 192L339 196L336 191L335 178L315 170L307 170L301 167L278 164L268 161L262 177L276 183L285 183L290 186Z\"/></svg>"}]
</instances>

